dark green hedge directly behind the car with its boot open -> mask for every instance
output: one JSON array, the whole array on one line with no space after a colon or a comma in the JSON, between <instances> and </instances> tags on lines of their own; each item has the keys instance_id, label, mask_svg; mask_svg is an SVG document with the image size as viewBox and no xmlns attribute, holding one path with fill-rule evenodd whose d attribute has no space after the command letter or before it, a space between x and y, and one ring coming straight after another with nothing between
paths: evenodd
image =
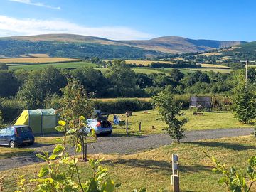
<instances>
[{"instance_id":1,"label":"dark green hedge directly behind the car with its boot open","mask_svg":"<svg viewBox=\"0 0 256 192\"><path fill-rule=\"evenodd\" d=\"M109 112L111 114L152 109L151 102L139 99L117 99L108 100L107 102L96 100L93 106L95 110L101 110L102 112Z\"/></svg>"}]
</instances>

